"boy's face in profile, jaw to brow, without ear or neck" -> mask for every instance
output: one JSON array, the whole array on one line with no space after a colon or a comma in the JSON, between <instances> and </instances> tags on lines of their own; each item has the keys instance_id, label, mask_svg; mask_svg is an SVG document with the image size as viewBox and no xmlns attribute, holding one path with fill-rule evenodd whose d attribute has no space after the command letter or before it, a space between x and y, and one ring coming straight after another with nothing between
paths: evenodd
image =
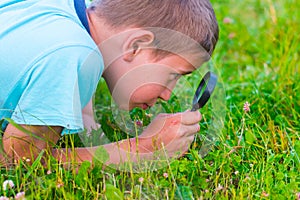
<instances>
[{"instance_id":1,"label":"boy's face in profile, jaw to brow, without ear or neck","mask_svg":"<svg viewBox=\"0 0 300 200\"><path fill-rule=\"evenodd\" d=\"M116 60L105 71L104 78L121 109L147 109L158 99L168 100L177 80L194 70L181 56L169 55L156 60L145 51L132 62Z\"/></svg>"}]
</instances>

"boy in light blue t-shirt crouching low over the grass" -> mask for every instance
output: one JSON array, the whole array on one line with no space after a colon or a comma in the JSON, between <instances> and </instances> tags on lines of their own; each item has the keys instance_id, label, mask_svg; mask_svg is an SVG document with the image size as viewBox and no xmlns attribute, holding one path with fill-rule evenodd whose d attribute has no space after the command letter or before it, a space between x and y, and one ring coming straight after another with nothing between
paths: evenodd
<instances>
[{"instance_id":1,"label":"boy in light blue t-shirt crouching low over the grass","mask_svg":"<svg viewBox=\"0 0 300 200\"><path fill-rule=\"evenodd\" d=\"M209 0L101 0L86 10L83 4L0 3L0 119L23 128L4 121L3 164L51 152L62 131L96 128L91 98L101 75L120 108L146 109L168 100L178 78L207 61L218 39ZM162 147L168 156L182 155L200 120L199 111L160 114L139 138L103 145L106 164L151 159ZM92 161L97 148L52 153L64 162Z\"/></svg>"}]
</instances>

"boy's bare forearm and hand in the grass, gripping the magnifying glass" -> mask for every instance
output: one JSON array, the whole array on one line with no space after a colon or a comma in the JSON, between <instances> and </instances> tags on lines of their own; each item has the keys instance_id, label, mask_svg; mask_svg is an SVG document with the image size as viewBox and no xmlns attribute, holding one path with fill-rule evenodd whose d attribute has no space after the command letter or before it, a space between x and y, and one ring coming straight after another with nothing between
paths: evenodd
<instances>
[{"instance_id":1,"label":"boy's bare forearm and hand in the grass, gripping the magnifying glass","mask_svg":"<svg viewBox=\"0 0 300 200\"><path fill-rule=\"evenodd\" d=\"M165 160L166 157L181 156L188 150L195 133L200 130L200 120L199 111L162 114L157 116L138 138L125 139L101 147L75 148L75 152L71 149L54 149L53 155L66 164L92 162L93 158L97 157L97 149L104 147L109 155L105 165L159 159L159 156Z\"/></svg>"}]
</instances>

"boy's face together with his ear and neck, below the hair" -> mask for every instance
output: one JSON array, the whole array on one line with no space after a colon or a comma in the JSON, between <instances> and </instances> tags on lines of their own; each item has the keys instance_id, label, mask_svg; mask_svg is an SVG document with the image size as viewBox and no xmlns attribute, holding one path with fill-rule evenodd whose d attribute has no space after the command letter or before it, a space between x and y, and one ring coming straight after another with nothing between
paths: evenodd
<instances>
[{"instance_id":1,"label":"boy's face together with his ear and neck, below the hair","mask_svg":"<svg viewBox=\"0 0 300 200\"><path fill-rule=\"evenodd\" d=\"M105 23L100 22L97 21L97 26L104 27ZM193 47L189 48L191 53L182 51L187 55L177 55L172 48L160 49L173 53L157 59L151 46L155 38L152 32L140 28L116 32L109 30L114 29L101 28L96 29L94 34L91 32L94 41L100 43L98 47L105 63L103 77L121 109L147 109L158 99L168 100L180 76L193 72L196 69L194 66L201 66L203 63L203 52L198 43L188 45ZM174 37L173 32L172 34ZM179 33L175 38L180 40L185 36L182 37ZM177 43L178 40L174 42ZM191 42L194 43L195 41Z\"/></svg>"}]
</instances>

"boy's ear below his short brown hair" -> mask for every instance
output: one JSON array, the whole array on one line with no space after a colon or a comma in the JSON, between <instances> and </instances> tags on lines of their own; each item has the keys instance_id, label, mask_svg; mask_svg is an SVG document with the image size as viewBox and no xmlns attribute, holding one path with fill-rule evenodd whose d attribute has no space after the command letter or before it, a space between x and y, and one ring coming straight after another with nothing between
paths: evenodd
<instances>
[{"instance_id":1,"label":"boy's ear below his short brown hair","mask_svg":"<svg viewBox=\"0 0 300 200\"><path fill-rule=\"evenodd\" d=\"M142 49L150 48L153 41L154 34L151 31L142 29L134 31L124 42L123 59L126 62L131 62Z\"/></svg>"}]
</instances>

